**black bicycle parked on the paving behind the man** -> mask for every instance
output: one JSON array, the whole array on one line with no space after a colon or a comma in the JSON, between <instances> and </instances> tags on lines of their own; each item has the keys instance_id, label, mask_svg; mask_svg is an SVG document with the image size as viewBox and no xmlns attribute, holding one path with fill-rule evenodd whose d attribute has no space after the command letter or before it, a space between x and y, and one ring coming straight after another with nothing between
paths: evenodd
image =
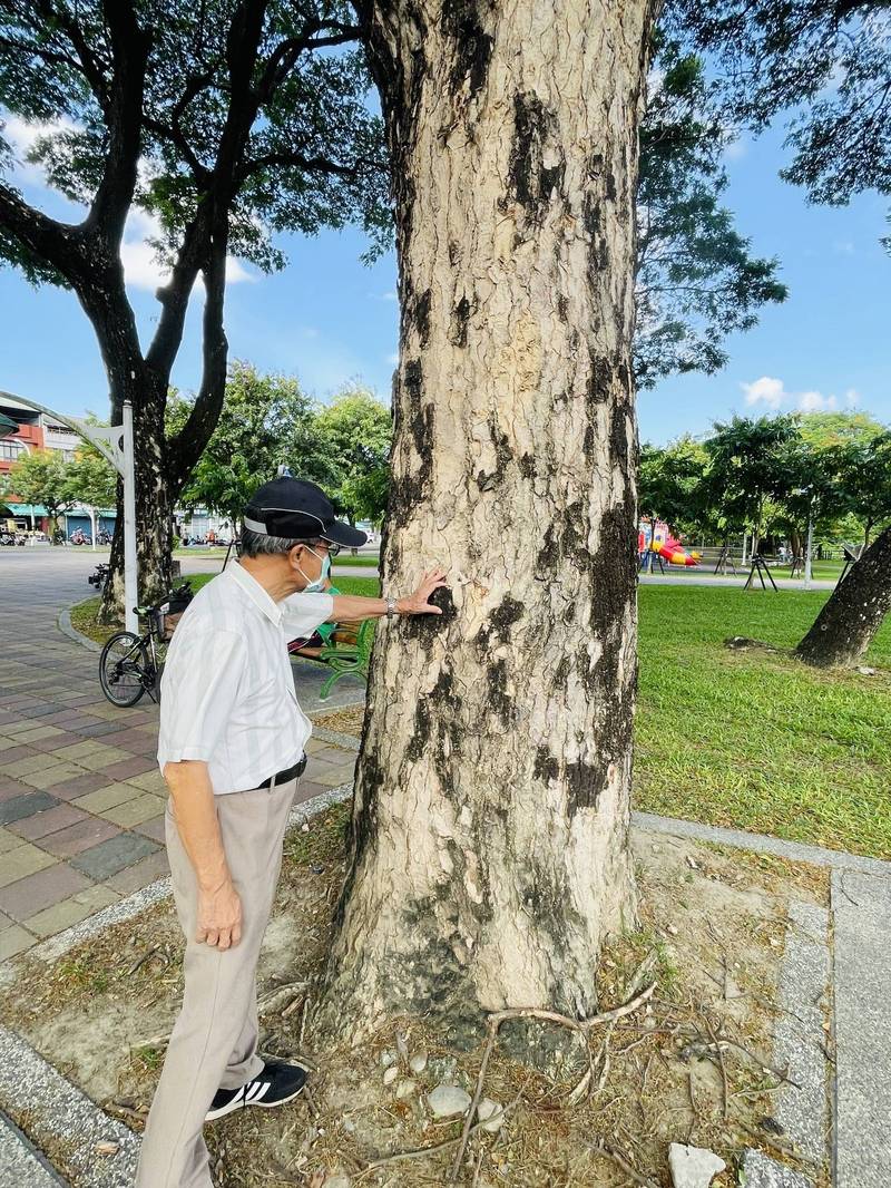
<instances>
[{"instance_id":1,"label":"black bicycle parked on the paving behind the man","mask_svg":"<svg viewBox=\"0 0 891 1188\"><path fill-rule=\"evenodd\" d=\"M156 703L160 701L160 678L172 636L166 619L182 614L194 596L191 587L183 584L156 606L135 607L139 618L148 620L145 634L119 631L107 642L99 659L99 683L113 706L128 709L146 693Z\"/></svg>"}]
</instances>

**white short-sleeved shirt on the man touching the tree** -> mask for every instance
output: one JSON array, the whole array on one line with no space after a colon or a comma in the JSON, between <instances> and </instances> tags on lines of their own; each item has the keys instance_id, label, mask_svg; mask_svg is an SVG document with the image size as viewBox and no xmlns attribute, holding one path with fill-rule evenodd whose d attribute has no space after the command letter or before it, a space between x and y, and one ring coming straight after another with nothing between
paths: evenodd
<instances>
[{"instance_id":1,"label":"white short-sleeved shirt on the man touching the tree","mask_svg":"<svg viewBox=\"0 0 891 1188\"><path fill-rule=\"evenodd\" d=\"M201 759L214 792L257 788L296 764L312 725L297 703L287 640L330 619L330 594L276 602L240 564L189 604L162 678L158 764Z\"/></svg>"}]
</instances>

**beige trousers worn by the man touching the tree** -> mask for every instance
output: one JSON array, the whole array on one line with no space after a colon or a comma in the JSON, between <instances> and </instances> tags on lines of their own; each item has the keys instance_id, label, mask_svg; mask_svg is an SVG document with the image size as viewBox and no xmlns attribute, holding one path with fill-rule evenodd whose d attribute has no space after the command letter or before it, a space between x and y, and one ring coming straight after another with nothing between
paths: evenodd
<instances>
[{"instance_id":1,"label":"beige trousers worn by the man touching the tree","mask_svg":"<svg viewBox=\"0 0 891 1188\"><path fill-rule=\"evenodd\" d=\"M195 940L197 881L168 802L170 874L187 942L185 990L143 1137L135 1188L213 1188L204 1114L217 1089L236 1089L263 1072L257 1055L257 959L298 783L216 797L242 916L241 941L225 952Z\"/></svg>"}]
</instances>

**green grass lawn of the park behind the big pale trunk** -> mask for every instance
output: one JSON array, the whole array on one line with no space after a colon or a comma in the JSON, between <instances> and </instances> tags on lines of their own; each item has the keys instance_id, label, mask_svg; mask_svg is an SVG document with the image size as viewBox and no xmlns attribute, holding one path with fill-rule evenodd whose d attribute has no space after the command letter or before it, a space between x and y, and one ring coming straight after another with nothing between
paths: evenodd
<instances>
[{"instance_id":1,"label":"green grass lawn of the park behind the big pale trunk","mask_svg":"<svg viewBox=\"0 0 891 1188\"><path fill-rule=\"evenodd\" d=\"M379 582L337 588L374 596ZM723 646L791 649L827 598L640 587L637 808L891 859L891 621L865 658L872 677ZM72 611L75 626L90 605L95 623L97 602Z\"/></svg>"}]
</instances>

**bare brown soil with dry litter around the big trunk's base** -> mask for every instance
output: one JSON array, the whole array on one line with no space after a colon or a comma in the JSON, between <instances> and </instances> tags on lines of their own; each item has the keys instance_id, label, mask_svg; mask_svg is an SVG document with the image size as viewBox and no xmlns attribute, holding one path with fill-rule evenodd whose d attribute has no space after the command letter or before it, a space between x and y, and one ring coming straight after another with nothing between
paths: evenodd
<instances>
[{"instance_id":1,"label":"bare brown soil with dry litter around the big trunk's base","mask_svg":"<svg viewBox=\"0 0 891 1188\"><path fill-rule=\"evenodd\" d=\"M434 1020L405 1018L342 1050L320 1043L308 1022L343 874L346 819L337 805L286 841L259 968L261 1047L303 1061L311 1093L279 1111L248 1110L208 1126L220 1188L315 1186L336 1173L390 1188L449 1182L462 1123L434 1119L426 1093L450 1081L473 1095L485 1045L450 1051ZM457 1183L669 1186L670 1142L708 1146L726 1159L714 1188L735 1183L745 1146L798 1165L772 1120L783 1073L770 1056L773 1003L788 904L824 904L823 872L643 833L634 853L640 928L604 954L601 1007L623 1004L642 984L655 990L612 1025L592 1028L586 1042L557 1028L563 1059L548 1073L511 1059L499 1040L484 1093L510 1110L497 1132L472 1135ZM0 996L0 1013L139 1130L181 996L181 941L165 902L49 968L25 956ZM411 1073L407 1062L419 1054L426 1067ZM589 1054L588 1092L571 1105ZM39 1124L29 1114L18 1120L39 1143ZM440 1144L447 1145L402 1157Z\"/></svg>"}]
</instances>

